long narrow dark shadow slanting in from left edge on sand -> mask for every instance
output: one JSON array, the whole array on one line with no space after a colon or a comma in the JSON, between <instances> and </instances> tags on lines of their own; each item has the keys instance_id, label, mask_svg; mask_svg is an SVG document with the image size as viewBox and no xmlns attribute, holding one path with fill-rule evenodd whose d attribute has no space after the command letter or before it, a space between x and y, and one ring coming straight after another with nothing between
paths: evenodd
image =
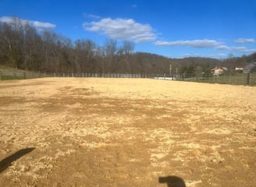
<instances>
[{"instance_id":1,"label":"long narrow dark shadow slanting in from left edge on sand","mask_svg":"<svg viewBox=\"0 0 256 187\"><path fill-rule=\"evenodd\" d=\"M30 153L34 149L35 147L30 147L30 148L18 150L16 153L13 153L9 157L5 157L5 159L0 161L0 173L2 171L5 171L5 169L7 169L12 164L13 161L18 160L20 157L23 157L25 154Z\"/></svg>"}]
</instances>

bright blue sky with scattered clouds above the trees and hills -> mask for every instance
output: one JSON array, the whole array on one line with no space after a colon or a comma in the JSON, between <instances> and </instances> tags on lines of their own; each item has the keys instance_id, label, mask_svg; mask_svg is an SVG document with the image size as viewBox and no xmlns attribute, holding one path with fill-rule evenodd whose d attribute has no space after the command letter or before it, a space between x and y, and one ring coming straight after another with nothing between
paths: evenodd
<instances>
[{"instance_id":1,"label":"bright blue sky with scattered clouds above the trees and hills","mask_svg":"<svg viewBox=\"0 0 256 187\"><path fill-rule=\"evenodd\" d=\"M12 16L73 41L133 41L134 51L171 58L256 52L256 0L0 0L0 21Z\"/></svg>"}]
</instances>

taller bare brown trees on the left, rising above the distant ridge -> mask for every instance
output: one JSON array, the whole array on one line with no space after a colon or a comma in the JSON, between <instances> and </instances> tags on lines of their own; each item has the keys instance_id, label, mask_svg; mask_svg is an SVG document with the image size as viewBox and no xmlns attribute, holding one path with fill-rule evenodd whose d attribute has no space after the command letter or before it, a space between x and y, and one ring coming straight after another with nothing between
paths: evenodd
<instances>
[{"instance_id":1,"label":"taller bare brown trees on the left, rising above the distant ridge","mask_svg":"<svg viewBox=\"0 0 256 187\"><path fill-rule=\"evenodd\" d=\"M52 30L38 31L12 18L0 23L0 63L38 72L131 72L133 43L109 39L100 47L90 39L71 41Z\"/></svg>"}]
</instances>

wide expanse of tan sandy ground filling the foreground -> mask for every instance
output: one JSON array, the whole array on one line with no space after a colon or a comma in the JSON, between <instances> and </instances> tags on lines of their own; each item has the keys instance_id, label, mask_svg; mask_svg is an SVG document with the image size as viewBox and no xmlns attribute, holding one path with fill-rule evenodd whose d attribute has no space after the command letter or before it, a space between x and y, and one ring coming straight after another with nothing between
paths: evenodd
<instances>
[{"instance_id":1,"label":"wide expanse of tan sandy ground filling the foreground","mask_svg":"<svg viewBox=\"0 0 256 187\"><path fill-rule=\"evenodd\" d=\"M256 87L0 82L0 186L166 187L167 176L187 187L255 187Z\"/></svg>"}]
</instances>

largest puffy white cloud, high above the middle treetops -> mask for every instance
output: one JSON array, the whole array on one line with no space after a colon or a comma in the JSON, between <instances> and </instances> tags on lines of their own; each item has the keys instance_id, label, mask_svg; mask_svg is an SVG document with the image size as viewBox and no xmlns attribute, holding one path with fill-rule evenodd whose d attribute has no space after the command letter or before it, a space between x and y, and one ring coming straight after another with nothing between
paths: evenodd
<instances>
[{"instance_id":1,"label":"largest puffy white cloud, high above the middle treetops","mask_svg":"<svg viewBox=\"0 0 256 187\"><path fill-rule=\"evenodd\" d=\"M84 23L84 30L108 35L117 40L137 43L155 41L156 34L149 24L136 23L133 19L105 18L98 22Z\"/></svg>"}]
</instances>

